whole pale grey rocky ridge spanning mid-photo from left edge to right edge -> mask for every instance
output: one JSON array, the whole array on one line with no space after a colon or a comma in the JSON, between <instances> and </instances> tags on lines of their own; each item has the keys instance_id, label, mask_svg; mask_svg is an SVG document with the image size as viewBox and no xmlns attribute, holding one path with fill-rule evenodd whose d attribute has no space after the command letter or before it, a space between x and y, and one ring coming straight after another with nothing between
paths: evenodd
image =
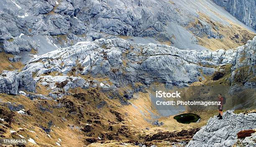
<instances>
[{"instance_id":1,"label":"whole pale grey rocky ridge spanning mid-photo from left edge to right edge","mask_svg":"<svg viewBox=\"0 0 256 147\"><path fill-rule=\"evenodd\" d=\"M255 77L255 67L251 66L255 65L253 53L256 50L255 46L256 37L243 47L215 52L179 50L159 44L131 44L123 39L100 39L93 42L79 42L72 47L35 57L27 63L21 73L35 75L37 77L35 80L41 81L43 85L48 85L49 81L67 81L64 79L69 78L76 82L71 87L82 86L82 83L86 82L77 75L104 75L115 87L135 85L136 82L147 86L152 82L161 82L171 88L172 86L189 86L198 81L200 77L204 78L203 75L212 75L215 72L214 66L232 64L231 82L240 82L244 86L255 87L255 81L250 80ZM250 70L246 70L248 76L246 79L239 80L237 75L244 74L240 69L247 66L250 67ZM4 85L2 87L5 87L1 89L1 92L17 94L18 89L14 84L16 74L10 73L12 74L1 75L2 85ZM49 73L55 73L55 75L49 75ZM67 77L67 75L74 77ZM23 84L21 87L30 85L27 82L20 83ZM5 85L10 85L11 88ZM50 88L54 89L52 86ZM33 89L26 88L29 91Z\"/></svg>"}]
</instances>

